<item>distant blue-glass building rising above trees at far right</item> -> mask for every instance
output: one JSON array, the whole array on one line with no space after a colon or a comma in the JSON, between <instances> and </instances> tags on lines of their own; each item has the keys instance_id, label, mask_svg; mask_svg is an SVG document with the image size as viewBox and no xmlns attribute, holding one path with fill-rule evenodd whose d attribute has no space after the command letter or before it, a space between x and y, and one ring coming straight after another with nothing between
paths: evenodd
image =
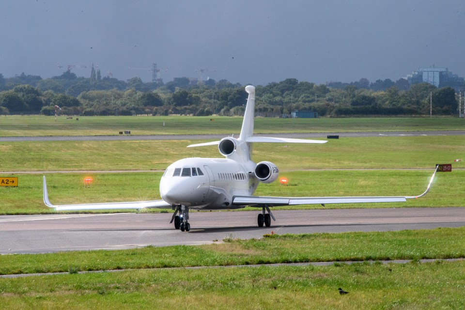
<instances>
[{"instance_id":1,"label":"distant blue-glass building rising above trees at far right","mask_svg":"<svg viewBox=\"0 0 465 310\"><path fill-rule=\"evenodd\" d=\"M452 74L448 68L418 68L418 71L413 71L407 75L407 81L410 85L418 83L429 83L437 88L450 86L455 92L459 92L464 88L464 78L459 78L458 75Z\"/></svg>"}]
</instances>

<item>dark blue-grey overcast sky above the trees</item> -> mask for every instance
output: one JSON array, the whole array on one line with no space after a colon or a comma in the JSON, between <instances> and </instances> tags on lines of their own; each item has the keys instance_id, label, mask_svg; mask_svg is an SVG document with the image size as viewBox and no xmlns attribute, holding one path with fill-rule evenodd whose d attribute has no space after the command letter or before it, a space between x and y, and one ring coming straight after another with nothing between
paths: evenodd
<instances>
[{"instance_id":1,"label":"dark blue-grey overcast sky above the trees","mask_svg":"<svg viewBox=\"0 0 465 310\"><path fill-rule=\"evenodd\" d=\"M463 0L2 0L0 73L94 63L148 82L128 67L156 62L165 82L208 69L204 79L266 85L397 80L435 64L463 77L464 29Z\"/></svg>"}]
</instances>

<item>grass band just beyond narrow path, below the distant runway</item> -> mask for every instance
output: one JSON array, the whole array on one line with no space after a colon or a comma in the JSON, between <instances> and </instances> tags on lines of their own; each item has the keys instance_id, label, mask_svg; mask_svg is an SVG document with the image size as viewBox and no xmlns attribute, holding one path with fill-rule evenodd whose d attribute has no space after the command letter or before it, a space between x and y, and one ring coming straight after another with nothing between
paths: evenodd
<instances>
[{"instance_id":1,"label":"grass band just beyond narrow path, below the distant runway","mask_svg":"<svg viewBox=\"0 0 465 310\"><path fill-rule=\"evenodd\" d=\"M165 170L185 157L221 157L203 140L0 142L0 171ZM285 147L286 146L286 147ZM255 143L253 160L296 169L433 168L465 154L465 136L367 137L325 144ZM464 161L453 163L465 168Z\"/></svg>"}]
</instances>

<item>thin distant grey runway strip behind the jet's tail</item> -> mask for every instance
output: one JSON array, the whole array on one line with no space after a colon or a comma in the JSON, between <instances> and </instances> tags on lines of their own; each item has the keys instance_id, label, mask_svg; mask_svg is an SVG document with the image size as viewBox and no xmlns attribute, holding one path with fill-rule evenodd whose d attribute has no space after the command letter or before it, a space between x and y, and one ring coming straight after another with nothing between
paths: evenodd
<instances>
[{"instance_id":1,"label":"thin distant grey runway strip behind the jet's tail","mask_svg":"<svg viewBox=\"0 0 465 310\"><path fill-rule=\"evenodd\" d=\"M359 137L416 137L416 136L463 136L465 130L442 130L442 131L386 131L386 132L333 132L333 133L287 133L287 134L260 134L256 136L277 138L325 138L328 135L340 136L340 138ZM18 141L108 141L108 140L220 140L227 134L214 135L122 135L122 136L50 136L50 137L0 137L0 142ZM234 137L239 137L236 133Z\"/></svg>"}]
</instances>

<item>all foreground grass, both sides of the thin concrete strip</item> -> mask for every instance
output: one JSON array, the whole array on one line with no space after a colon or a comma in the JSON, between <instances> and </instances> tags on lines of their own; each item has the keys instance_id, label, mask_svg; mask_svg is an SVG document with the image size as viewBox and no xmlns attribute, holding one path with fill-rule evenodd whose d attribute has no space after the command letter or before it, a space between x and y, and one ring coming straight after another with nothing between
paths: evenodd
<instances>
[{"instance_id":1,"label":"all foreground grass, both sides of the thin concrete strip","mask_svg":"<svg viewBox=\"0 0 465 310\"><path fill-rule=\"evenodd\" d=\"M69 274L0 279L4 309L463 309L465 263L357 263L331 266L147 268L280 261L457 257L464 229L276 236L200 247L0 256L2 273ZM340 295L338 287L350 292Z\"/></svg>"}]
</instances>

